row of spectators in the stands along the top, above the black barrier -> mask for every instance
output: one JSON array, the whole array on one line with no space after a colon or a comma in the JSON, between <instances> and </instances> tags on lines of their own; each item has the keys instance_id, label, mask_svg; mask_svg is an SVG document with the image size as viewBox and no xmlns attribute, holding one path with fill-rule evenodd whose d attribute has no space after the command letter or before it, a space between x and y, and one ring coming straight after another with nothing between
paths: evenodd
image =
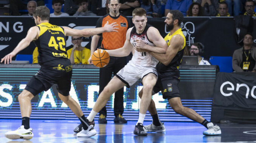
<instances>
[{"instance_id":1,"label":"row of spectators in the stands along the top, above the black barrier","mask_svg":"<svg viewBox=\"0 0 256 143\"><path fill-rule=\"evenodd\" d=\"M22 15L24 9L31 16L37 6L46 5L54 12L51 17L103 16L108 14L108 0L9 0L11 15ZM132 16L133 9L142 7L147 16L164 17L171 9L177 9L188 17L229 17L239 14L256 16L255 0L120 0L120 13Z\"/></svg>"}]
</instances>

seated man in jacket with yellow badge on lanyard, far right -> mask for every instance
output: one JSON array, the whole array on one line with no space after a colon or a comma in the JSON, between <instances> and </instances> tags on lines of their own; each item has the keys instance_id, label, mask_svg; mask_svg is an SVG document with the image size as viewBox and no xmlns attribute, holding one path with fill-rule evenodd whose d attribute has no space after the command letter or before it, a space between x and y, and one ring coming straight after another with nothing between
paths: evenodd
<instances>
[{"instance_id":1,"label":"seated man in jacket with yellow badge on lanyard, far right","mask_svg":"<svg viewBox=\"0 0 256 143\"><path fill-rule=\"evenodd\" d=\"M236 72L256 71L256 47L253 47L253 35L247 33L244 36L244 46L234 51L232 66Z\"/></svg>"}]
</instances>

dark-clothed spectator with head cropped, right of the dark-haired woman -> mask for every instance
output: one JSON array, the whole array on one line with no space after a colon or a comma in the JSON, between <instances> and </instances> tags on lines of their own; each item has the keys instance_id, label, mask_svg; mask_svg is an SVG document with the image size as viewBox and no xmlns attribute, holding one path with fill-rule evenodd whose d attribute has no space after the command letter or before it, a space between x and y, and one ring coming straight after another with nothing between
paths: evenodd
<instances>
[{"instance_id":1,"label":"dark-clothed spectator with head cropped, right of the dark-haired woman","mask_svg":"<svg viewBox=\"0 0 256 143\"><path fill-rule=\"evenodd\" d=\"M218 0L194 0L194 2L200 3L204 8L204 16L217 15L217 9L219 8Z\"/></svg>"}]
</instances>

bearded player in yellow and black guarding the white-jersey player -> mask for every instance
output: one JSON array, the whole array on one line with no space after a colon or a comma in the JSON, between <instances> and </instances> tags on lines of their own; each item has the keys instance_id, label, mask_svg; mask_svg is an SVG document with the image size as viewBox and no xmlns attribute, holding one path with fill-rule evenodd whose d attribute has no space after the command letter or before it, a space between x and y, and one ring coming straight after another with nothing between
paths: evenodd
<instances>
[{"instance_id":1,"label":"bearded player in yellow and black guarding the white-jersey player","mask_svg":"<svg viewBox=\"0 0 256 143\"><path fill-rule=\"evenodd\" d=\"M161 90L163 98L168 99L171 108L173 108L176 113L201 123L207 128L207 131L203 132L204 135L220 135L221 129L219 126L208 122L206 119L204 119L204 117L197 114L193 109L184 107L180 100L178 89L180 78L179 65L182 60L186 43L185 36L183 35L180 28L182 20L183 15L180 11L171 10L165 20L166 27L170 31L170 33L168 33L164 38L168 45L166 53L159 54L148 51L153 57L159 60L159 64L156 66L158 80L153 88L152 95L158 93ZM136 47L137 50L145 51L145 48L143 48L144 47ZM147 48L147 50L151 50L151 48ZM142 92L143 90L140 91L139 96L142 96ZM148 111L153 118L153 123L144 126L144 130L148 132L164 132L165 127L159 120L156 107L152 99Z\"/></svg>"}]
</instances>

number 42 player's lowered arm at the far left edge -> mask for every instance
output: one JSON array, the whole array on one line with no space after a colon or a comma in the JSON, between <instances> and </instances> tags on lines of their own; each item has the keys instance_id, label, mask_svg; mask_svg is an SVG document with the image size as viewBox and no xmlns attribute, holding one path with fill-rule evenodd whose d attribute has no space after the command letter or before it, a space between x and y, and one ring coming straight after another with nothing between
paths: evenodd
<instances>
[{"instance_id":1,"label":"number 42 player's lowered arm at the far left edge","mask_svg":"<svg viewBox=\"0 0 256 143\"><path fill-rule=\"evenodd\" d=\"M30 44L31 41L36 40L38 33L39 33L38 27L36 27L36 26L31 27L28 30L27 36L24 39L22 39L22 41L19 42L19 44L14 48L14 50L11 53L7 54L5 57L3 57L1 59L1 63L3 61L5 61L5 64L6 64L6 62L7 62L7 64L11 63L12 57L14 57L17 53L19 53L19 51L28 47L28 45Z\"/></svg>"}]
</instances>

